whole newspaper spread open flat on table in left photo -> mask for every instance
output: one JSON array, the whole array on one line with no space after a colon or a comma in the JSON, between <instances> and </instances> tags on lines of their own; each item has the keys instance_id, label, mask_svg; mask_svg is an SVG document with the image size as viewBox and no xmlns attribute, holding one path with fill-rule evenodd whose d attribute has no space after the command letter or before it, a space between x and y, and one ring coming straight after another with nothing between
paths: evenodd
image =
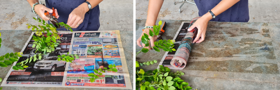
<instances>
[{"instance_id":1,"label":"whole newspaper spread open flat on table in left photo","mask_svg":"<svg viewBox=\"0 0 280 90\"><path fill-rule=\"evenodd\" d=\"M43 33L46 36L47 33ZM17 62L30 58L35 54L32 48L32 32L24 48L22 57ZM60 45L55 51L42 55L40 60L31 61L24 70L8 72L1 86L25 86L25 87L73 87L73 88L121 88L132 89L128 68L124 56L124 49L119 31L60 31ZM70 62L58 61L57 56L63 54L78 54L79 59ZM103 56L102 56L103 53ZM115 64L118 72L106 71L91 83L89 73L96 74L93 70L109 68L109 64ZM16 63L13 65L16 65Z\"/></svg>"}]
</instances>

